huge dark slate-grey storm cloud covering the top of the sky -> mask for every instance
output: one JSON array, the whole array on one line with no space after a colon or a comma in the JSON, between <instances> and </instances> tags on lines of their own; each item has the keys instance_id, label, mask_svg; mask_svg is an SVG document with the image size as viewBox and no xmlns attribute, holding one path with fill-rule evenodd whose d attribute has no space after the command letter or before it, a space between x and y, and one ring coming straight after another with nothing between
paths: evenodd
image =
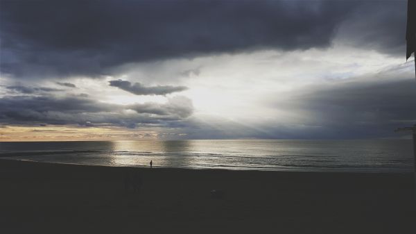
<instances>
[{"instance_id":1,"label":"huge dark slate-grey storm cloud covering the top of the sky","mask_svg":"<svg viewBox=\"0 0 416 234\"><path fill-rule=\"evenodd\" d=\"M349 1L1 1L1 71L99 76L129 62L327 47Z\"/></svg>"}]
</instances>

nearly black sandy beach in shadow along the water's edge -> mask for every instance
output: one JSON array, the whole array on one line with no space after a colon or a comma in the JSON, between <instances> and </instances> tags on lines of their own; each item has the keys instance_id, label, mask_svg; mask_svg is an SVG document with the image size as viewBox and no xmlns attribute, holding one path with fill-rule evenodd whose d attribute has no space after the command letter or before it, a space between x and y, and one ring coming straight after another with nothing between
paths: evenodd
<instances>
[{"instance_id":1,"label":"nearly black sandy beach in shadow along the water's edge","mask_svg":"<svg viewBox=\"0 0 416 234\"><path fill-rule=\"evenodd\" d=\"M0 233L416 233L413 174L134 170L0 160Z\"/></svg>"}]
</instances>

